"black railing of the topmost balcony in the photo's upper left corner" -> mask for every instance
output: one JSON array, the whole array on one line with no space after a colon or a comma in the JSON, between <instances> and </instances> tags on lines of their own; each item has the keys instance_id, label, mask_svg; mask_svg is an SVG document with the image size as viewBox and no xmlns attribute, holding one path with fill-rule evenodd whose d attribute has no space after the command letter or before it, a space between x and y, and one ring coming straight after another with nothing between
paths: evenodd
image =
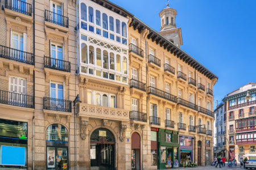
<instances>
[{"instance_id":1,"label":"black railing of the topmost balcony in the photo's upper left corner","mask_svg":"<svg viewBox=\"0 0 256 170\"><path fill-rule=\"evenodd\" d=\"M31 4L20 0L5 0L5 8L32 16Z\"/></svg>"}]
</instances>

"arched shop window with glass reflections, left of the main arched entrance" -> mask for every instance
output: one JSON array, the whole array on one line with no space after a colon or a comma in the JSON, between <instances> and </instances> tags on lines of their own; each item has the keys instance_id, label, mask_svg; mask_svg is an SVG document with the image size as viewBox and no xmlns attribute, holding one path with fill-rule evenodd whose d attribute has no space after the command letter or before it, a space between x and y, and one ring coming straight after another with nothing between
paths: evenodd
<instances>
[{"instance_id":1,"label":"arched shop window with glass reflections, left of the main arched entrance","mask_svg":"<svg viewBox=\"0 0 256 170\"><path fill-rule=\"evenodd\" d=\"M60 124L49 125L46 130L47 169L69 169L68 131Z\"/></svg>"}]
</instances>

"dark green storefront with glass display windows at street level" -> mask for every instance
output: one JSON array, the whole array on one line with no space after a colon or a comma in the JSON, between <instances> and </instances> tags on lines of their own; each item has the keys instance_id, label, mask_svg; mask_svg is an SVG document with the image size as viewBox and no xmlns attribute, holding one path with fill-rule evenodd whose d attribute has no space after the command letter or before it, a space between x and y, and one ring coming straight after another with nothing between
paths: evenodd
<instances>
[{"instance_id":1,"label":"dark green storefront with glass display windows at street level","mask_svg":"<svg viewBox=\"0 0 256 170\"><path fill-rule=\"evenodd\" d=\"M158 169L179 168L179 132L159 129Z\"/></svg>"}]
</instances>

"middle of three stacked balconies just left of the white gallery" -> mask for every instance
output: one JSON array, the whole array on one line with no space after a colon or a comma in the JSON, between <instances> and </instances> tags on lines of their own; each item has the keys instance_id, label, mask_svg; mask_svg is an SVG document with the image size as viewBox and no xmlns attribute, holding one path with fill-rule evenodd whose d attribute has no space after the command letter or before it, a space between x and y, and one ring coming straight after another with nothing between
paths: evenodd
<instances>
[{"instance_id":1,"label":"middle of three stacked balconies just left of the white gallery","mask_svg":"<svg viewBox=\"0 0 256 170\"><path fill-rule=\"evenodd\" d=\"M57 58L44 56L44 67L49 69L70 72L70 62Z\"/></svg>"}]
</instances>

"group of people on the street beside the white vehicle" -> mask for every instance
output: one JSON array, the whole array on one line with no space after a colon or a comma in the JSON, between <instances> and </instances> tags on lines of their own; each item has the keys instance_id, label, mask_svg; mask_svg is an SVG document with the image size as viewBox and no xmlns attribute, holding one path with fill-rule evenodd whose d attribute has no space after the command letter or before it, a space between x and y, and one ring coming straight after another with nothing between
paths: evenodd
<instances>
[{"instance_id":1,"label":"group of people on the street beside the white vehicle","mask_svg":"<svg viewBox=\"0 0 256 170\"><path fill-rule=\"evenodd\" d=\"M247 162L247 157L245 157L245 159L243 159L243 157L240 158L240 167L243 166L243 168L245 168L245 163ZM221 156L215 156L214 157L214 165L215 168L218 167L218 165L221 167L225 167L225 162L226 162L226 158L225 156L221 157ZM237 160L235 158L230 158L228 160L228 167L236 167L237 168Z\"/></svg>"}]
</instances>

